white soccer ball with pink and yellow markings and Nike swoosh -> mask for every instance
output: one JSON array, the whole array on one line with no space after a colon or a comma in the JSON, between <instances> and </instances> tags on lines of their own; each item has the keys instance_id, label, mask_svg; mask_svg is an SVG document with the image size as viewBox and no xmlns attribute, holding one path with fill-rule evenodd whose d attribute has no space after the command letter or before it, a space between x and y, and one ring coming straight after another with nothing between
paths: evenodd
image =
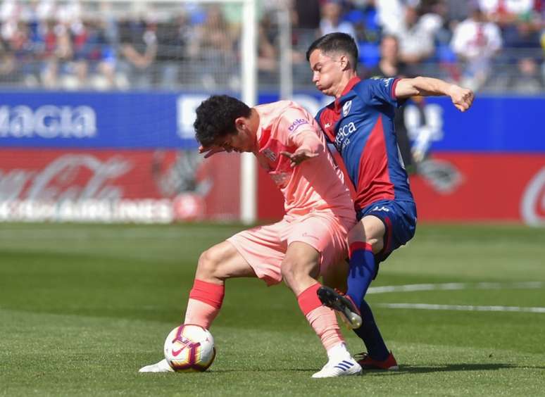
<instances>
[{"instance_id":1,"label":"white soccer ball with pink and yellow markings and Nike swoosh","mask_svg":"<svg viewBox=\"0 0 545 397\"><path fill-rule=\"evenodd\" d=\"M182 324L168 334L165 358L175 371L206 371L215 358L214 338L199 325Z\"/></svg>"}]
</instances>

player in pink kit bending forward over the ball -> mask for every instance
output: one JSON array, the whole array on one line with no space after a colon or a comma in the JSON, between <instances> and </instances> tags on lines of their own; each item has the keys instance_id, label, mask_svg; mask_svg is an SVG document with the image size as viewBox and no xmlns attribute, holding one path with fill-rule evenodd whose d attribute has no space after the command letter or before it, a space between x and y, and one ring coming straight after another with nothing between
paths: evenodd
<instances>
[{"instance_id":1,"label":"player in pink kit bending forward over the ball","mask_svg":"<svg viewBox=\"0 0 545 397\"><path fill-rule=\"evenodd\" d=\"M346 350L334 311L320 302L320 275L334 275L346 257L356 213L342 172L332 160L313 116L292 101L249 108L230 96L211 96L196 110L196 139L205 158L220 151L252 152L284 195L284 218L209 248L199 258L184 323L208 329L231 277L284 280L320 337L328 362L315 378L359 374ZM333 265L331 267L330 265ZM140 372L166 372L166 360Z\"/></svg>"}]
</instances>

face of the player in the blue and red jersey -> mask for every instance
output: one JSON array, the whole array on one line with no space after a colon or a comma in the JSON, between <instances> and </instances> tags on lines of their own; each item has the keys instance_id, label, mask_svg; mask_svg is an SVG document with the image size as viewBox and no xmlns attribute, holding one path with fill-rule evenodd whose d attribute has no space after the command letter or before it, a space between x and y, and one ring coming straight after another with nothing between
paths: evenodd
<instances>
[{"instance_id":1,"label":"face of the player in the blue and red jersey","mask_svg":"<svg viewBox=\"0 0 545 397\"><path fill-rule=\"evenodd\" d=\"M323 94L334 96L342 80L343 69L339 58L327 56L319 49L312 51L310 58L312 82Z\"/></svg>"}]
</instances>

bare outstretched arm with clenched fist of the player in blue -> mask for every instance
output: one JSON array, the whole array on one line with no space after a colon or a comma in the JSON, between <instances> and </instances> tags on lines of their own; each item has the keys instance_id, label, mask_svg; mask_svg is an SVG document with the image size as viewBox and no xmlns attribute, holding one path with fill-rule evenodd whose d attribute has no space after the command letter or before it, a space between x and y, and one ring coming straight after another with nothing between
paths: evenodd
<instances>
[{"instance_id":1,"label":"bare outstretched arm with clenched fist of the player in blue","mask_svg":"<svg viewBox=\"0 0 545 397\"><path fill-rule=\"evenodd\" d=\"M450 84L432 77L415 77L401 79L396 85L396 98L403 99L409 96L450 96L452 103L459 111L467 111L475 99L470 89Z\"/></svg>"}]
</instances>

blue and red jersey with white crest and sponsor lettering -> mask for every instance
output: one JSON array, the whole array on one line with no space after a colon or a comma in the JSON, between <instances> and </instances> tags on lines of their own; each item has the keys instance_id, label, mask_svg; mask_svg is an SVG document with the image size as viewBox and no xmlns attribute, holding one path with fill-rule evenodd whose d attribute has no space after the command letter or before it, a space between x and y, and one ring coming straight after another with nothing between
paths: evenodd
<instances>
[{"instance_id":1,"label":"blue and red jersey with white crest and sponsor lettering","mask_svg":"<svg viewBox=\"0 0 545 397\"><path fill-rule=\"evenodd\" d=\"M316 120L344 160L356 210L379 200L413 201L394 130L399 80L353 77Z\"/></svg>"}]
</instances>

